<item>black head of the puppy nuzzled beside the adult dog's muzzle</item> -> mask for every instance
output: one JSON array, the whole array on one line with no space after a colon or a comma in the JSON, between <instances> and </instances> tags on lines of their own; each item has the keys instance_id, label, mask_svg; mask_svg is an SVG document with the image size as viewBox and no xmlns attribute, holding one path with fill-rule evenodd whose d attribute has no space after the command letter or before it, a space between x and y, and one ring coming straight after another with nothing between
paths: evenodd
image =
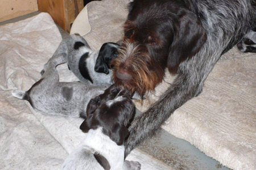
<instances>
[{"instance_id":1,"label":"black head of the puppy nuzzled beside the adult dog's muzzle","mask_svg":"<svg viewBox=\"0 0 256 170\"><path fill-rule=\"evenodd\" d=\"M119 45L114 42L106 42L101 46L100 52L98 53L98 58L96 60L96 65L94 66L94 71L98 73L109 74L110 62L117 58L117 50Z\"/></svg>"}]
</instances>

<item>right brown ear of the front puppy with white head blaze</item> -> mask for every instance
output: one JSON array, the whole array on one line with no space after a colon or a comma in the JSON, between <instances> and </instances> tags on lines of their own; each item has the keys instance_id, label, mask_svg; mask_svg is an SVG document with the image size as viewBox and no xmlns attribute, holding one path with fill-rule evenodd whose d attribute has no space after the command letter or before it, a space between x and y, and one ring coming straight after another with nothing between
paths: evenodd
<instances>
[{"instance_id":1,"label":"right brown ear of the front puppy with white head blaze","mask_svg":"<svg viewBox=\"0 0 256 170\"><path fill-rule=\"evenodd\" d=\"M129 130L125 127L125 125L117 123L113 126L110 133L110 139L120 146L123 145L127 135L129 135Z\"/></svg>"}]
</instances>

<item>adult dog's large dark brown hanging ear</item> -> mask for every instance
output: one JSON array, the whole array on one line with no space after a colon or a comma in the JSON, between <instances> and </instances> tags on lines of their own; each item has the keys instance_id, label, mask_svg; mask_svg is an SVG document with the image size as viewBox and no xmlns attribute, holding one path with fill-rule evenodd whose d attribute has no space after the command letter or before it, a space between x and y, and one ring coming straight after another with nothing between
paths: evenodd
<instances>
[{"instance_id":1,"label":"adult dog's large dark brown hanging ear","mask_svg":"<svg viewBox=\"0 0 256 170\"><path fill-rule=\"evenodd\" d=\"M177 71L180 63L195 56L207 40L207 34L199 18L191 11L174 21L174 40L169 48L168 70Z\"/></svg>"}]
</instances>

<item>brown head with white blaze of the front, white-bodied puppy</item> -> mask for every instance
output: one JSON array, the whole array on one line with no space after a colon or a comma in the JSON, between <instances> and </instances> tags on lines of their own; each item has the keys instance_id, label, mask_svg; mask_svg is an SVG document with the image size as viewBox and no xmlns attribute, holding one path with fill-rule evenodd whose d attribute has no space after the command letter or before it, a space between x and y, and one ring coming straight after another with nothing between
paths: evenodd
<instances>
[{"instance_id":1,"label":"brown head with white blaze of the front, white-bodied puppy","mask_svg":"<svg viewBox=\"0 0 256 170\"><path fill-rule=\"evenodd\" d=\"M129 134L127 125L133 117L134 104L130 99L131 94L127 90L119 92L113 100L101 104L93 114L90 114L80 129L88 131L102 127L102 132L108 135L117 145L123 145Z\"/></svg>"}]
</instances>

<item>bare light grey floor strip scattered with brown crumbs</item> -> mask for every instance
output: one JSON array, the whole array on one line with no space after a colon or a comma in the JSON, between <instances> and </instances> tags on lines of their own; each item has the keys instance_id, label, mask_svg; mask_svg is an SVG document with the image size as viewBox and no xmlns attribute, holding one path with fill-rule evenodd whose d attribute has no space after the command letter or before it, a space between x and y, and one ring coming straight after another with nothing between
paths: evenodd
<instances>
[{"instance_id":1,"label":"bare light grey floor strip scattered with brown crumbs","mask_svg":"<svg viewBox=\"0 0 256 170\"><path fill-rule=\"evenodd\" d=\"M136 109L135 116L141 112ZM183 139L159 129L139 149L175 169L228 169Z\"/></svg>"}]
</instances>

